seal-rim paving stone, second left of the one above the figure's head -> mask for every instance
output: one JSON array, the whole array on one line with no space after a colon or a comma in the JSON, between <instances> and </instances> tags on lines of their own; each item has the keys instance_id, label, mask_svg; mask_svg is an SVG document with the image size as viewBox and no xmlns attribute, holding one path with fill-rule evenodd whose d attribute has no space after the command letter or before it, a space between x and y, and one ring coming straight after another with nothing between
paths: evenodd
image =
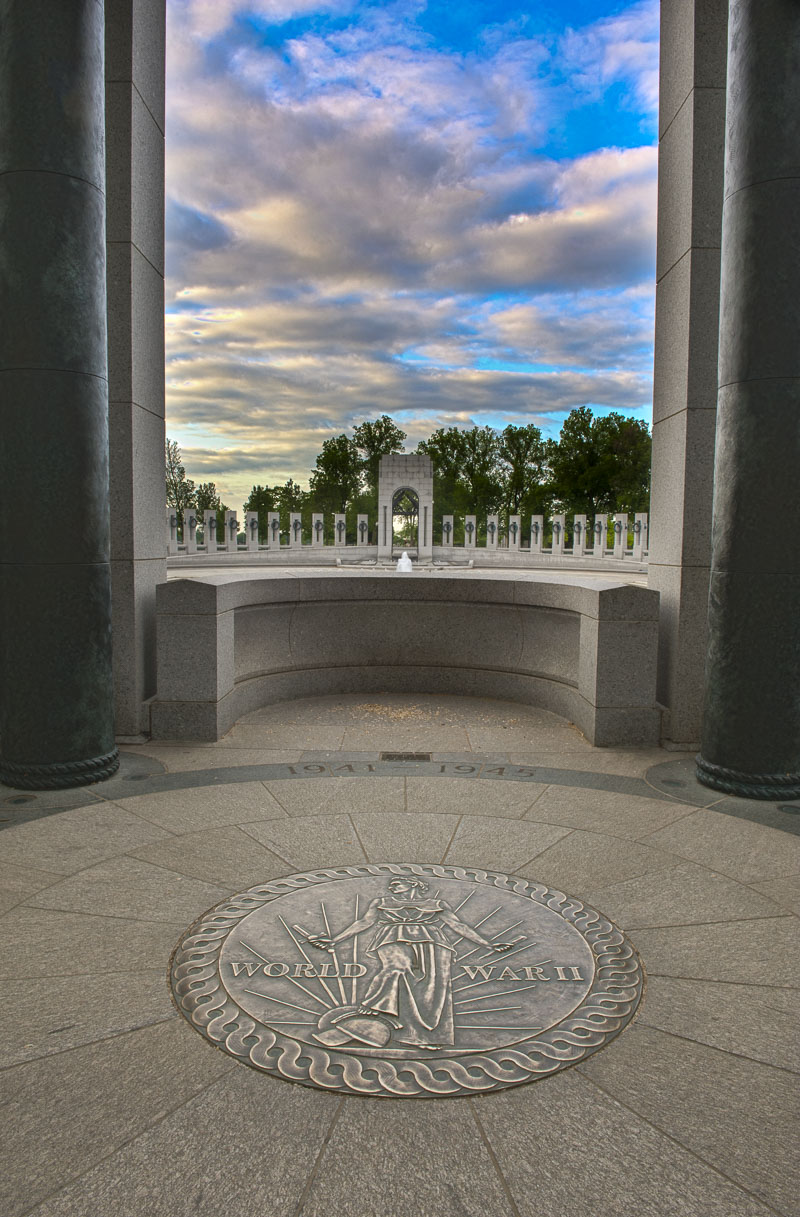
<instances>
[{"instance_id":1,"label":"seal-rim paving stone, second left of the one above the figure's head","mask_svg":"<svg viewBox=\"0 0 800 1217\"><path fill-rule=\"evenodd\" d=\"M205 832L186 832L134 851L134 857L153 862L179 875L191 875L233 893L275 879L286 863L235 824Z\"/></svg>"}]
</instances>

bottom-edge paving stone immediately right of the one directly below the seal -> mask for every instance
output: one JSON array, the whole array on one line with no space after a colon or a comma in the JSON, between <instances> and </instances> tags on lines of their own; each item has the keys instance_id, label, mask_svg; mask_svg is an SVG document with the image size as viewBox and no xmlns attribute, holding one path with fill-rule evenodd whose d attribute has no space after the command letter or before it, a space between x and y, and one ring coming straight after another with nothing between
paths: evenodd
<instances>
[{"instance_id":1,"label":"bottom-edge paving stone immediately right of the one directly below the seal","mask_svg":"<svg viewBox=\"0 0 800 1217\"><path fill-rule=\"evenodd\" d=\"M520 1217L772 1213L576 1070L470 1101Z\"/></svg>"}]
</instances>

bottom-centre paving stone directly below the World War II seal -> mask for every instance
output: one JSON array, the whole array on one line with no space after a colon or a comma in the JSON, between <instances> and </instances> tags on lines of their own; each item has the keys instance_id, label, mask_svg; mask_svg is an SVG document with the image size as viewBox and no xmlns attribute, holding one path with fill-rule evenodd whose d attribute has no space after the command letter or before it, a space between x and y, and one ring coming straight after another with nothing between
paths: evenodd
<instances>
[{"instance_id":1,"label":"bottom-centre paving stone directly below the World War II seal","mask_svg":"<svg viewBox=\"0 0 800 1217\"><path fill-rule=\"evenodd\" d=\"M346 1100L303 1217L514 1217L469 1100Z\"/></svg>"}]
</instances>

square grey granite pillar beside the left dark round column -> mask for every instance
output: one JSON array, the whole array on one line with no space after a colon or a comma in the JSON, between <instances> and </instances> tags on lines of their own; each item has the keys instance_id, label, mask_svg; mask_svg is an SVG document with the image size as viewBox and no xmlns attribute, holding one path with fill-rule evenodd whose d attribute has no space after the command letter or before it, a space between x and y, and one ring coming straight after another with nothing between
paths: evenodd
<instances>
[{"instance_id":1,"label":"square grey granite pillar beside the left dark round column","mask_svg":"<svg viewBox=\"0 0 800 1217\"><path fill-rule=\"evenodd\" d=\"M164 498L164 0L105 0L114 720L150 730Z\"/></svg>"}]
</instances>

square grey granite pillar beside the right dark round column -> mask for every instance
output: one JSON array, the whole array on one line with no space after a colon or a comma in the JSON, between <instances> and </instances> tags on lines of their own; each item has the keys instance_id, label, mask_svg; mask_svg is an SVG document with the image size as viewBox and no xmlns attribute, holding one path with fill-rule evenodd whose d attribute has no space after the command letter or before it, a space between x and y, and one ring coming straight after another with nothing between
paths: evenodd
<instances>
[{"instance_id":1,"label":"square grey granite pillar beside the right dark round column","mask_svg":"<svg viewBox=\"0 0 800 1217\"><path fill-rule=\"evenodd\" d=\"M664 736L703 718L717 404L728 0L661 0L659 236L648 587L660 593Z\"/></svg>"}]
</instances>

